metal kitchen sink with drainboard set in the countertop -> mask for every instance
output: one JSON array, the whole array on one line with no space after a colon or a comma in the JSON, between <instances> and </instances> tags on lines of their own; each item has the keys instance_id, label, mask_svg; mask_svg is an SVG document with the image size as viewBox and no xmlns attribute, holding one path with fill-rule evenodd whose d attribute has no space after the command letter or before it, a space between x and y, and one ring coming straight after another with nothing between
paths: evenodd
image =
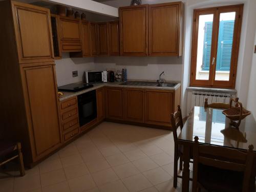
<instances>
[{"instance_id":1,"label":"metal kitchen sink with drainboard set in the countertop","mask_svg":"<svg viewBox=\"0 0 256 192\"><path fill-rule=\"evenodd\" d=\"M127 81L120 83L121 86L139 86L139 87L163 87L163 88L174 88L178 83L166 82L147 82L147 81Z\"/></svg>"}]
</instances>

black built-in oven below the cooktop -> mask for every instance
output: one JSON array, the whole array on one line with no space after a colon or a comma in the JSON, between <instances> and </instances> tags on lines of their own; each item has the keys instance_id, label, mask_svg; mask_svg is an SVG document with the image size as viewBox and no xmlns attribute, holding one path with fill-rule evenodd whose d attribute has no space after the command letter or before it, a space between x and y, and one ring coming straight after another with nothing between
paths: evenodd
<instances>
[{"instance_id":1,"label":"black built-in oven below the cooktop","mask_svg":"<svg viewBox=\"0 0 256 192\"><path fill-rule=\"evenodd\" d=\"M90 91L77 96L79 124L83 126L97 118L96 91Z\"/></svg>"}]
</instances>

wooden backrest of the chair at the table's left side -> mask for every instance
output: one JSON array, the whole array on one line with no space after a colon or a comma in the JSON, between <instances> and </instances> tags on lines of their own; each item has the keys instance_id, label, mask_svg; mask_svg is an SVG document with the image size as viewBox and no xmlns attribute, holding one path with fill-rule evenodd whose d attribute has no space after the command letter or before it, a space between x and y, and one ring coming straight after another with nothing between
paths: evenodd
<instances>
[{"instance_id":1,"label":"wooden backrest of the chair at the table's left side","mask_svg":"<svg viewBox=\"0 0 256 192\"><path fill-rule=\"evenodd\" d=\"M178 138L177 129L180 127L180 130L182 130L183 128L183 120L182 120L180 105L178 105L178 111L172 114L172 117L170 120L172 123L174 141L176 141Z\"/></svg>"}]
</instances>

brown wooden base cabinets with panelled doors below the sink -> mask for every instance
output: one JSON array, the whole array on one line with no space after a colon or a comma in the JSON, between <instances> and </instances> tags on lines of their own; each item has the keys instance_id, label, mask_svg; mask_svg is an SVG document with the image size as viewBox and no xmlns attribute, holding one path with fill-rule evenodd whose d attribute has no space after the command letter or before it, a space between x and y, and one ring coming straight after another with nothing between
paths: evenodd
<instances>
[{"instance_id":1,"label":"brown wooden base cabinets with panelled doors below the sink","mask_svg":"<svg viewBox=\"0 0 256 192\"><path fill-rule=\"evenodd\" d=\"M180 104L178 90L106 88L106 118L171 127L170 116Z\"/></svg>"}]
</instances>

